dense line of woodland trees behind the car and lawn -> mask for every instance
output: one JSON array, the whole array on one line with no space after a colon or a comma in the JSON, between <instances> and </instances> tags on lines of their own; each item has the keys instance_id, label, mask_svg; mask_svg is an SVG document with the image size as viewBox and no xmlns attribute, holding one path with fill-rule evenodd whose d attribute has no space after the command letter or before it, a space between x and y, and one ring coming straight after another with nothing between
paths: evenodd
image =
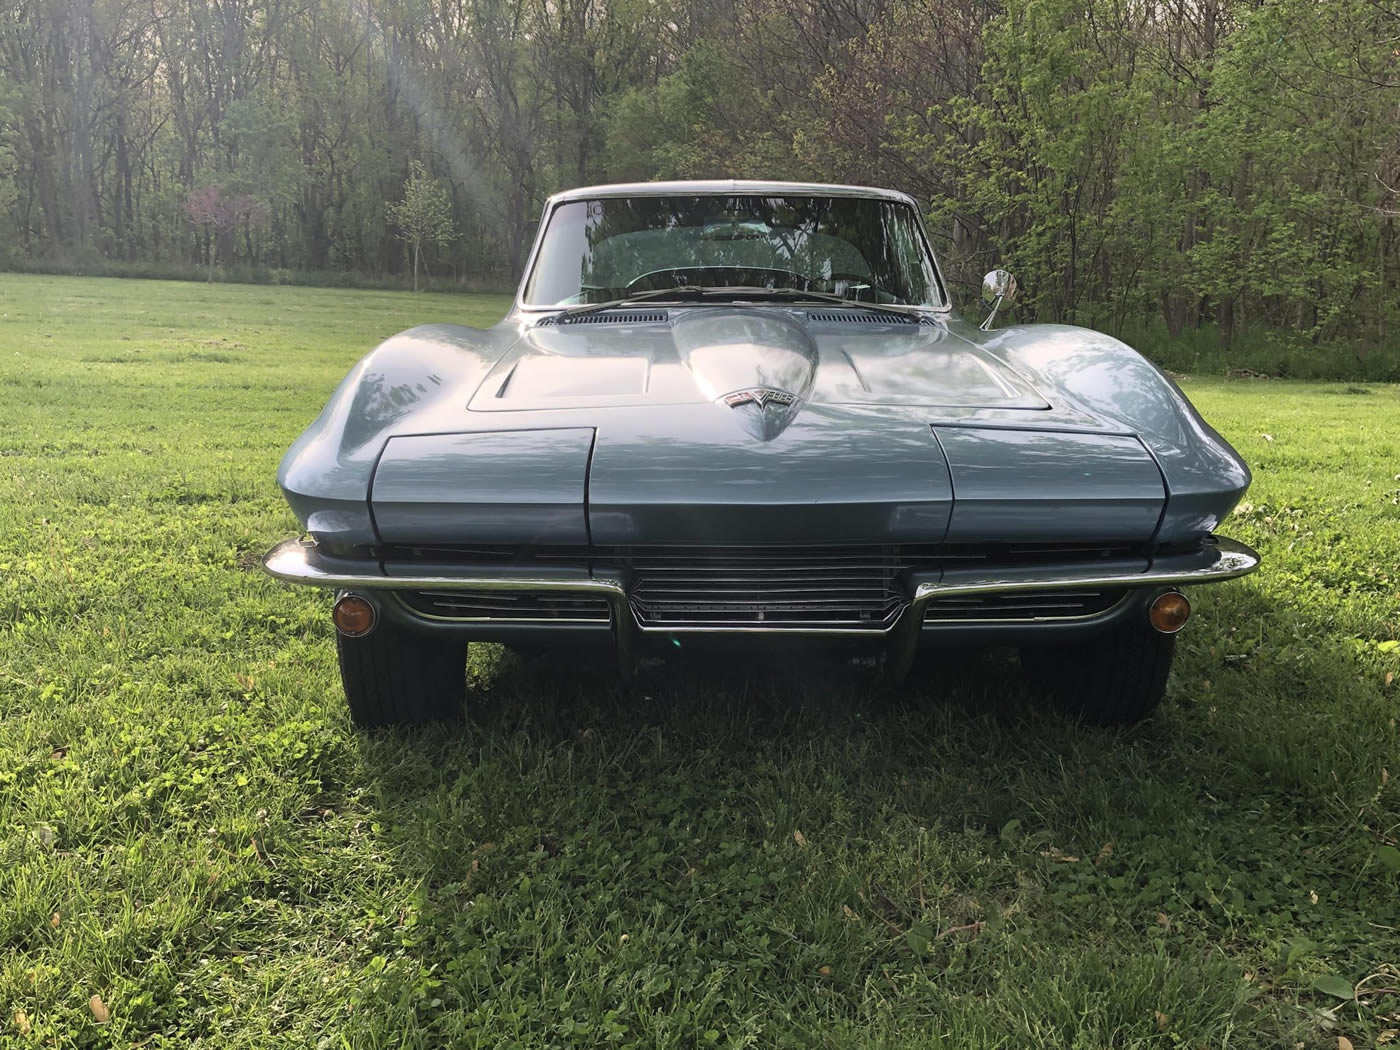
<instances>
[{"instance_id":1,"label":"dense line of woodland trees behind the car and lawn","mask_svg":"<svg viewBox=\"0 0 1400 1050\"><path fill-rule=\"evenodd\" d=\"M0 0L0 258L508 284L550 192L892 185L1021 316L1383 347L1394 0ZM213 209L213 210L211 210Z\"/></svg>"}]
</instances>

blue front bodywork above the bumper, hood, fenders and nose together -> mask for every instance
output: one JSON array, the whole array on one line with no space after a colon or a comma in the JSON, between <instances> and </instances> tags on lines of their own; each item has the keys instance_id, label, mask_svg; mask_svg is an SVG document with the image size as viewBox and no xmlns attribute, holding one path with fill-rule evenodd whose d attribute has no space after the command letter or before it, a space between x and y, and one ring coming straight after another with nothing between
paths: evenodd
<instances>
[{"instance_id":1,"label":"blue front bodywork above the bumper, hood, fenders and nose together","mask_svg":"<svg viewBox=\"0 0 1400 1050\"><path fill-rule=\"evenodd\" d=\"M1249 470L1088 329L704 307L400 333L279 482L343 545L1183 542Z\"/></svg>"}]
</instances>

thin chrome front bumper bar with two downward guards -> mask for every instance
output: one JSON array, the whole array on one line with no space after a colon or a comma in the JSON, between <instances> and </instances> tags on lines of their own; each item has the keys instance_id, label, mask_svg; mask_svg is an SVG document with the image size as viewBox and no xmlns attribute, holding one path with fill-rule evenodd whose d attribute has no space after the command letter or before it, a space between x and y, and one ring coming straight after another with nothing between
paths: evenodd
<instances>
[{"instance_id":1,"label":"thin chrome front bumper bar with two downward guards","mask_svg":"<svg viewBox=\"0 0 1400 1050\"><path fill-rule=\"evenodd\" d=\"M1121 559L1105 563L1025 568L920 570L907 578L909 608L892 624L869 627L771 627L762 624L714 624L644 627L627 601L626 581L617 571L588 573L503 573L476 571L470 575L388 575L378 563L347 561L321 554L314 543L287 540L267 552L263 568L277 580L343 591L494 591L552 592L592 596L612 606L610 630L624 666L630 666L636 641L644 634L785 634L883 637L892 665L907 665L925 630L930 602L997 594L1035 594L1068 588L1166 588L1217 582L1249 575L1259 568L1259 554L1232 539L1210 538L1201 550L1187 554ZM1047 573L1050 573L1047 575ZM601 624L608 630L608 624ZM934 629L937 624L930 624Z\"/></svg>"}]
</instances>

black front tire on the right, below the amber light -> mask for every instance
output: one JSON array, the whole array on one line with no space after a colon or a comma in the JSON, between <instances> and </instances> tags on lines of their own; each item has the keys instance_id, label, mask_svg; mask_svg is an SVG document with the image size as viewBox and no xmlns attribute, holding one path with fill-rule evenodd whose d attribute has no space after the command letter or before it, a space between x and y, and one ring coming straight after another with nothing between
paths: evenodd
<instances>
[{"instance_id":1,"label":"black front tire on the right, below the amber light","mask_svg":"<svg viewBox=\"0 0 1400 1050\"><path fill-rule=\"evenodd\" d=\"M1084 641L1025 645L1021 666L1084 721L1133 725L1162 703L1175 652L1175 634L1134 620Z\"/></svg>"}]
</instances>

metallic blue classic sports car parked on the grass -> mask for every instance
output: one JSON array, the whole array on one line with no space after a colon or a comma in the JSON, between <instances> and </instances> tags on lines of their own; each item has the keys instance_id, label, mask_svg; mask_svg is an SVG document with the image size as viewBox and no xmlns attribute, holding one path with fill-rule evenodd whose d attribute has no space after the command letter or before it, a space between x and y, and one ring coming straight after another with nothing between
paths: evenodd
<instances>
[{"instance_id":1,"label":"metallic blue classic sports car parked on the grass","mask_svg":"<svg viewBox=\"0 0 1400 1050\"><path fill-rule=\"evenodd\" d=\"M448 715L470 641L1007 643L1093 721L1162 697L1249 469L1116 339L953 315L914 202L672 182L552 197L494 328L364 357L281 461L361 725Z\"/></svg>"}]
</instances>

